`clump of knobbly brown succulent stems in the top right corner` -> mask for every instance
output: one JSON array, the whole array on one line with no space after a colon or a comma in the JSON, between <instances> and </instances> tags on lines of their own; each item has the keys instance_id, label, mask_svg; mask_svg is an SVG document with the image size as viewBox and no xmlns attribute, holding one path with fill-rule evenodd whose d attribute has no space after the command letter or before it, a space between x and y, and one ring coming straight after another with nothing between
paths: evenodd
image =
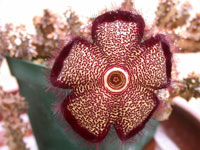
<instances>
[{"instance_id":1,"label":"clump of knobbly brown succulent stems in the top right corner","mask_svg":"<svg viewBox=\"0 0 200 150\"><path fill-rule=\"evenodd\" d=\"M156 11L156 28L171 34L177 52L200 51L200 15L191 18L191 8L188 1L161 0Z\"/></svg>"}]
</instances>

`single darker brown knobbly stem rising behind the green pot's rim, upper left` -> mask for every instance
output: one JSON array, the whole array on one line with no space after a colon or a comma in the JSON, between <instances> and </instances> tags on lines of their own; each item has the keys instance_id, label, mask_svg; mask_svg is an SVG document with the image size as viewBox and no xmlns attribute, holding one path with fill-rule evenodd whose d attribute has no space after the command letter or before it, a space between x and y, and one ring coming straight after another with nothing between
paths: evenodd
<instances>
[{"instance_id":1,"label":"single darker brown knobbly stem rising behind the green pot's rim, upper left","mask_svg":"<svg viewBox=\"0 0 200 150\"><path fill-rule=\"evenodd\" d=\"M38 52L38 57L50 56L52 50L58 46L59 41L67 35L69 26L61 16L45 9L43 16L33 18L36 35L32 44Z\"/></svg>"}]
</instances>

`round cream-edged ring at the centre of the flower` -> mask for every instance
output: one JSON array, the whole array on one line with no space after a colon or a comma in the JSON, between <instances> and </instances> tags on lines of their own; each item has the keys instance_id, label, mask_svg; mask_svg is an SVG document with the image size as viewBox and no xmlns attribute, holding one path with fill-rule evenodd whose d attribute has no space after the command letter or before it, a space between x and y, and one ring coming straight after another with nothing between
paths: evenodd
<instances>
[{"instance_id":1,"label":"round cream-edged ring at the centre of the flower","mask_svg":"<svg viewBox=\"0 0 200 150\"><path fill-rule=\"evenodd\" d=\"M129 82L127 71L119 67L113 67L104 75L104 85L111 92L123 91Z\"/></svg>"}]
</instances>

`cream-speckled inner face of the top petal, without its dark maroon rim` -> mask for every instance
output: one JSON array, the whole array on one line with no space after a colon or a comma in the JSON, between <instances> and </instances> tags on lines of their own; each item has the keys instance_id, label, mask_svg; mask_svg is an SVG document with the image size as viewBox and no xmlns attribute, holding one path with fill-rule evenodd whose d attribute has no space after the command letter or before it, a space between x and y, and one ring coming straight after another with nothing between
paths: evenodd
<instances>
[{"instance_id":1,"label":"cream-speckled inner face of the top petal, without its dark maroon rim","mask_svg":"<svg viewBox=\"0 0 200 150\"><path fill-rule=\"evenodd\" d=\"M140 50L134 48L138 42L137 31L138 26L133 22L103 23L98 26L94 45L98 45L107 56L125 59L131 53L140 54Z\"/></svg>"}]
</instances>

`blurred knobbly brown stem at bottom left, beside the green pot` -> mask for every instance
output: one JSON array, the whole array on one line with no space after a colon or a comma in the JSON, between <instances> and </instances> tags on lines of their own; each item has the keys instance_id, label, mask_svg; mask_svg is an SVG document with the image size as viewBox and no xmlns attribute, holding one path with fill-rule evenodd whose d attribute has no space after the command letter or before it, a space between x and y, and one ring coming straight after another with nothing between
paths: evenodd
<instances>
[{"instance_id":1,"label":"blurred knobbly brown stem at bottom left, beside the green pot","mask_svg":"<svg viewBox=\"0 0 200 150\"><path fill-rule=\"evenodd\" d=\"M6 93L0 88L0 113L3 117L3 127L9 150L28 150L23 141L23 132L26 131L28 124L20 118L26 109L27 103L19 92Z\"/></svg>"}]
</instances>

